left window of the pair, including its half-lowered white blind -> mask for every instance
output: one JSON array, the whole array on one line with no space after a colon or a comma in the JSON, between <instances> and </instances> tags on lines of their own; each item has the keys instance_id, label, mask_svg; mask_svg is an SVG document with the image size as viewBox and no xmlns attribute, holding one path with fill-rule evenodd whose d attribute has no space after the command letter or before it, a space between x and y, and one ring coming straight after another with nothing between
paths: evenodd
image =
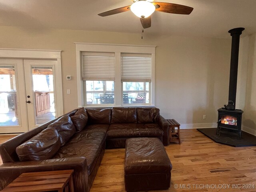
<instances>
[{"instance_id":1,"label":"left window of the pair, including its half-lowered white blind","mask_svg":"<svg viewBox=\"0 0 256 192\"><path fill-rule=\"evenodd\" d=\"M114 104L114 53L83 52L86 104Z\"/></svg>"}]
</instances>

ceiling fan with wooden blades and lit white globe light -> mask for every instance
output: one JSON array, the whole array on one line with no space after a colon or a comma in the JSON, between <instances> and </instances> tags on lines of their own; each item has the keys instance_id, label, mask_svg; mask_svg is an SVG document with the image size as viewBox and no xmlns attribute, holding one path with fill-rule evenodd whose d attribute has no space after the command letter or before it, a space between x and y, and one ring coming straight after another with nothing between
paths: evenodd
<instances>
[{"instance_id":1,"label":"ceiling fan with wooden blades and lit white globe light","mask_svg":"<svg viewBox=\"0 0 256 192\"><path fill-rule=\"evenodd\" d=\"M151 27L151 14L156 10L165 13L173 14L184 14L189 15L194 8L185 5L164 3L164 2L153 2L154 0L132 0L134 3L129 6L120 7L110 11L106 11L98 14L99 16L105 17L114 15L122 12L131 10L136 16L140 18L142 27Z\"/></svg>"}]
</instances>

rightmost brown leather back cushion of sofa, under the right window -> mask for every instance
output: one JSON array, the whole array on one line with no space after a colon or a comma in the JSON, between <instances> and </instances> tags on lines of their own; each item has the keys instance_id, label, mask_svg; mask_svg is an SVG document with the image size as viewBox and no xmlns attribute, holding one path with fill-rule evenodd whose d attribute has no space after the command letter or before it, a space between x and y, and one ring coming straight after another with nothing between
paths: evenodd
<instances>
[{"instance_id":1,"label":"rightmost brown leather back cushion of sofa, under the right window","mask_svg":"<svg viewBox=\"0 0 256 192\"><path fill-rule=\"evenodd\" d=\"M159 116L158 108L137 108L138 123L155 123Z\"/></svg>"}]
</instances>

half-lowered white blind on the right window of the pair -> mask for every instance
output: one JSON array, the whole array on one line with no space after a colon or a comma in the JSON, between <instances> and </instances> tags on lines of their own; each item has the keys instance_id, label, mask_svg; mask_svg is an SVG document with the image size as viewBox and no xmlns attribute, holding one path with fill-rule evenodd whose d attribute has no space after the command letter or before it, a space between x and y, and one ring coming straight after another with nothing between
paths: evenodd
<instances>
[{"instance_id":1,"label":"half-lowered white blind on the right window of the pair","mask_svg":"<svg viewBox=\"0 0 256 192\"><path fill-rule=\"evenodd\" d=\"M151 54L121 54L122 82L151 82Z\"/></svg>"}]
</instances>

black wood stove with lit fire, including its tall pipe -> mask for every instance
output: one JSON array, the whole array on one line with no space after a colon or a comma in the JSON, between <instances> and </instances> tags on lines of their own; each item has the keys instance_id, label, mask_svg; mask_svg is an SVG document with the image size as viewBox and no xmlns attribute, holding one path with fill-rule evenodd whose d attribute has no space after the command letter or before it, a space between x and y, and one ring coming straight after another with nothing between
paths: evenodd
<instances>
[{"instance_id":1,"label":"black wood stove with lit fire, including its tall pipe","mask_svg":"<svg viewBox=\"0 0 256 192\"><path fill-rule=\"evenodd\" d=\"M242 110L236 109L236 85L238 73L238 53L240 35L244 28L234 28L228 32L232 36L231 61L230 61L230 78L228 105L225 108L218 109L218 128L216 134L220 135L221 130L237 132L239 138L242 137Z\"/></svg>"}]
</instances>

